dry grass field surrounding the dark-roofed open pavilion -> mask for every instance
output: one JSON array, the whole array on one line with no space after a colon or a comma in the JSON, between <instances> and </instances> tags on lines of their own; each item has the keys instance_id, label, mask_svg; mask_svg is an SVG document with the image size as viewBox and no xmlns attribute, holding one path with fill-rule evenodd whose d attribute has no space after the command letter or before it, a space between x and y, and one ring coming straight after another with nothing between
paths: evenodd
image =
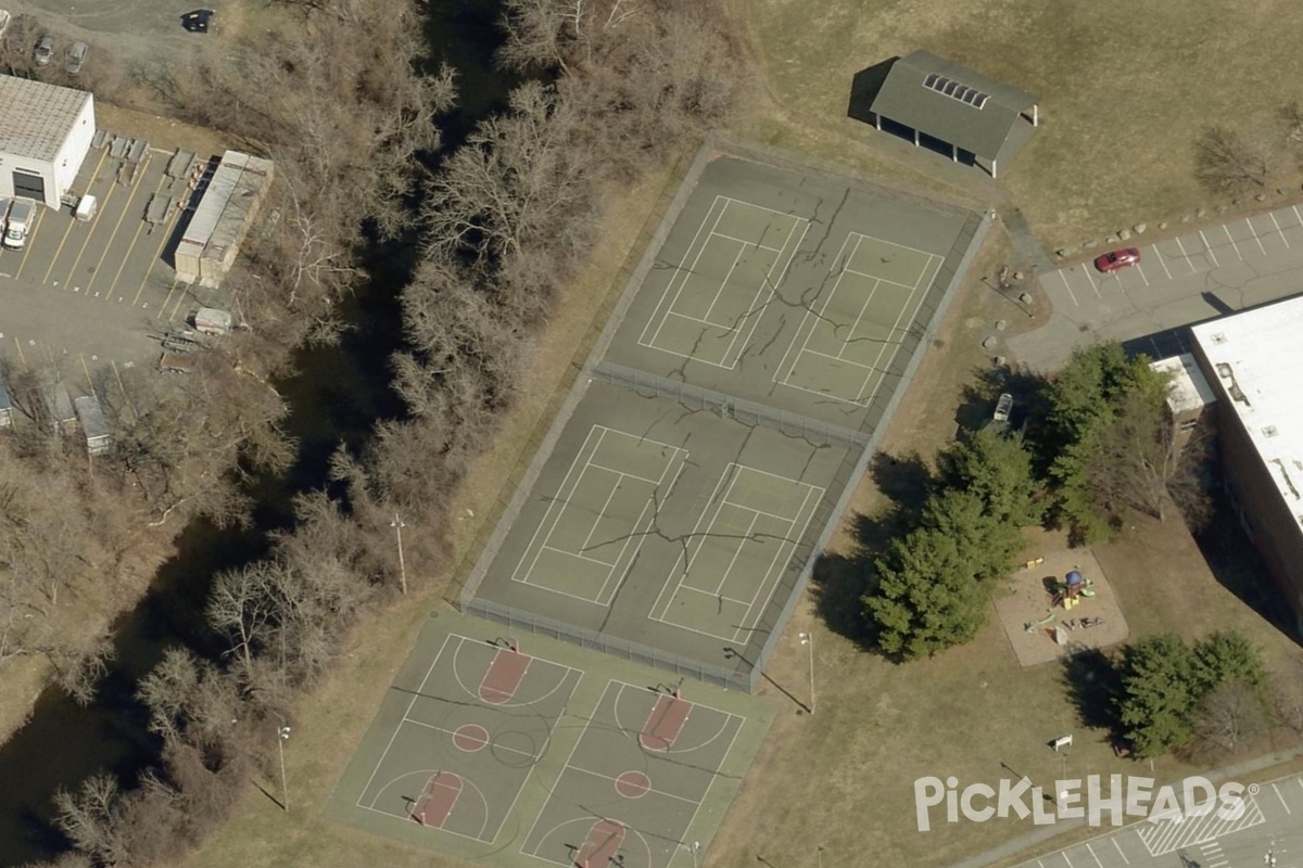
<instances>
[{"instance_id":1,"label":"dry grass field surrounding the dark-roofed open pavilion","mask_svg":"<svg viewBox=\"0 0 1303 868\"><path fill-rule=\"evenodd\" d=\"M916 48L1040 98L1041 128L999 189L1049 249L1216 204L1194 180L1208 124L1253 124L1295 98L1289 0L734 0L774 105L749 131L887 174L937 160L860 144L851 77ZM924 155L919 155L920 157ZM949 177L949 176L947 176ZM937 181L937 178L934 178ZM1294 187L1296 194L1298 187Z\"/></svg>"}]
</instances>

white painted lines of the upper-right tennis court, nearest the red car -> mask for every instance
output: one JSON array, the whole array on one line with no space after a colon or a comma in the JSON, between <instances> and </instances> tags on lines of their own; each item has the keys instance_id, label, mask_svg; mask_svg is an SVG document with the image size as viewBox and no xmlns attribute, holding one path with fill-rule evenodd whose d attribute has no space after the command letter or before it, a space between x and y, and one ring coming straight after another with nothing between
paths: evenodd
<instances>
[{"instance_id":1,"label":"white painted lines of the upper-right tennis court, nearest the red car","mask_svg":"<svg viewBox=\"0 0 1303 868\"><path fill-rule=\"evenodd\" d=\"M850 255L847 255L846 254L846 247L847 247L847 245L851 243L851 237L856 238L855 247L851 250ZM860 250L860 243L864 242L864 241L874 241L874 242L881 243L881 245L887 245L887 246L891 246L891 247L900 247L902 250L909 250L909 251L913 251L913 252L917 252L917 254L923 254L924 256L926 256L926 260L923 263L923 268L920 269L919 276L915 278L913 286L904 286L903 284L896 284L895 281L890 281L890 280L881 278L881 277L874 277L873 275L868 275L865 272L860 272L860 271L855 271L855 269L850 268L850 263L853 262L855 255ZM843 256L846 256L846 258L842 259ZM786 385L786 387L792 388L792 389L800 389L801 392L809 392L810 394L818 394L821 397L830 397L830 398L834 398L837 401L843 401L846 403L866 403L866 402L872 402L873 397L877 396L877 390L878 390L878 388L881 388L882 379L883 379L882 373L881 373L881 367L880 367L880 363L882 362L882 355L883 355L883 353L886 353L886 349L890 345L891 349L893 349L891 360L894 360L895 359L895 354L899 353L899 350L900 350L899 341L883 342L882 346L878 347L878 354L874 358L874 360L873 360L872 364L864 364L863 362L855 362L855 360L851 360L851 359L844 359L844 358L842 358L842 354L846 351L846 347L850 345L851 340L853 338L856 328L859 328L860 323L863 321L864 311L868 310L869 303L873 301L874 295L877 294L878 284L886 282L886 284L891 284L894 286L902 286L902 288L909 290L909 295L904 299L904 306L902 307L900 314L896 316L895 323L893 324L891 331L889 332L889 336L891 336L891 334L895 334L898 331L900 331L900 320L904 316L906 311L909 310L909 305L912 302L915 302L915 297L916 295L917 295L917 303L915 305L913 314L911 315L911 319L917 315L919 310L923 307L924 299L928 295L926 288L924 288L924 292L921 294L919 293L920 285L924 282L924 277L926 277L928 278L928 286L930 286L932 280L936 278L937 272L941 271L941 263L943 262L943 258L938 256L937 254L928 252L925 250L919 250L916 247L909 247L909 246L906 246L906 245L898 245L895 242L886 241L883 238L877 238L874 236L865 236L865 234L861 234L861 233L857 233L857 232L852 232L852 233L850 233L847 236L846 241L842 243L842 249L838 251L838 255L837 255L837 258L833 262L834 263L843 262L846 264L846 267L843 267L842 271L838 273L837 281L834 281L831 292L829 292L827 295L823 297L823 303L820 306L818 314L814 314L813 310L805 311L805 316L801 319L801 325L796 331L796 334L792 337L792 342L788 345L787 353L783 354L783 360L779 363L778 368L775 370L773 380L774 380L774 383L778 383L779 385ZM930 276L929 276L929 272L932 272ZM821 392L818 389L812 389L809 387L797 385L797 384L795 384L795 383L791 381L792 376L796 372L796 367L800 364L801 357L804 354L809 353L809 354L816 355L816 357L834 358L834 357L830 357L826 353L821 353L818 350L810 349L809 344L810 344L810 340L814 337L814 332L818 329L818 323L826 320L827 306L831 303L833 298L837 295L838 290L842 288L842 278L846 277L847 273L856 275L859 277L864 277L864 278L876 281L874 285L873 285L873 288L868 290L868 295L865 298L865 302L860 307L860 314L856 316L855 323L851 324L851 331L850 331L848 336L847 336L847 340L842 341L842 349L838 351L838 355L835 357L835 359L838 362L843 363L843 364L850 364L850 366L864 368L864 370L868 371L868 373L865 375L864 381L860 384L859 392L856 393L856 397L853 400L852 398L847 398L847 397L840 396L840 394L835 394L833 392ZM1065 280L1065 282L1066 282L1066 280ZM1071 293L1071 289L1068 292ZM1074 298L1074 302L1075 301L1076 299ZM812 318L814 319L814 323L810 325L809 323L810 323ZM803 334L804 334L804 337L801 337ZM791 364L788 364L788 358L791 357L792 349L796 347L796 341L797 340L801 341L800 349L796 351L796 358L791 362ZM890 364L890 362L889 362L889 364ZM868 388L869 381L874 376L878 377L878 383L877 383L877 385L873 387L870 396L868 398L865 398L864 397L864 392ZM779 377L782 377L782 379L779 379Z\"/></svg>"}]
</instances>

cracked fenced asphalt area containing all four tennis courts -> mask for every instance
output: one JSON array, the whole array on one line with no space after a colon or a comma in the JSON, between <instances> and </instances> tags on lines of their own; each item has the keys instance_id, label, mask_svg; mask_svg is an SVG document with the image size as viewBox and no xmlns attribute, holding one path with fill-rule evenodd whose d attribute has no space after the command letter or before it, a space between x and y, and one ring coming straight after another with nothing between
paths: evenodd
<instances>
[{"instance_id":1,"label":"cracked fenced asphalt area containing all four tennis courts","mask_svg":"<svg viewBox=\"0 0 1303 868\"><path fill-rule=\"evenodd\" d=\"M753 678L980 225L800 167L709 161L465 610Z\"/></svg>"}]
</instances>

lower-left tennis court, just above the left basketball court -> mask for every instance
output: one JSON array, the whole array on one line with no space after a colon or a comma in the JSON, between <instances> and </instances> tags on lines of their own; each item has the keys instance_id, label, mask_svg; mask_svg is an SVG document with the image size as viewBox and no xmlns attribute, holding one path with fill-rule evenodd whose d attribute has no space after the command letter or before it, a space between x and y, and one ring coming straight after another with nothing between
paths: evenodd
<instances>
[{"instance_id":1,"label":"lower-left tennis court, just above the left basketball court","mask_svg":"<svg viewBox=\"0 0 1303 868\"><path fill-rule=\"evenodd\" d=\"M593 426L512 579L606 606L688 453Z\"/></svg>"}]
</instances>

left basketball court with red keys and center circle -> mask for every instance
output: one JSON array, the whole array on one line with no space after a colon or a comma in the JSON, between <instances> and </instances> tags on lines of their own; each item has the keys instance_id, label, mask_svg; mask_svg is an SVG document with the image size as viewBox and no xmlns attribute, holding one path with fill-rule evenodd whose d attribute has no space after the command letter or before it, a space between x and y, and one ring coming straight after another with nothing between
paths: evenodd
<instances>
[{"instance_id":1,"label":"left basketball court with red keys and center circle","mask_svg":"<svg viewBox=\"0 0 1303 868\"><path fill-rule=\"evenodd\" d=\"M582 673L512 647L450 634L356 807L494 843Z\"/></svg>"}]
</instances>

